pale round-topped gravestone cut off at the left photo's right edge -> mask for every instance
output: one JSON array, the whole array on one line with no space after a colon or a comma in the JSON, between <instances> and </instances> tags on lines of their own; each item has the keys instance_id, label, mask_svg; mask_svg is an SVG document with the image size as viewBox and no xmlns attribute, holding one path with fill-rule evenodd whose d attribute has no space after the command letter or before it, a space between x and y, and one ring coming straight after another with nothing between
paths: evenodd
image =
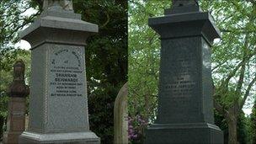
<instances>
[{"instance_id":1,"label":"pale round-topped gravestone cut off at the left photo's right edge","mask_svg":"<svg viewBox=\"0 0 256 144\"><path fill-rule=\"evenodd\" d=\"M128 83L120 88L115 99L114 108L114 143L128 144L128 109L127 109Z\"/></svg>"}]
</instances>

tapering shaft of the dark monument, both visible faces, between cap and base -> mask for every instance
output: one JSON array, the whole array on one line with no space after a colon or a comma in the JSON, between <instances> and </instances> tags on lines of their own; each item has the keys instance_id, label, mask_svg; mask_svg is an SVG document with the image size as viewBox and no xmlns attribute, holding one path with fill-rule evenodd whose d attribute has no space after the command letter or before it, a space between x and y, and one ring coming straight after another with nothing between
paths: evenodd
<instances>
[{"instance_id":1,"label":"tapering shaft of the dark monument, both visible faces, between cap and base","mask_svg":"<svg viewBox=\"0 0 256 144\"><path fill-rule=\"evenodd\" d=\"M205 47L200 50L202 44ZM212 108L209 97L212 94L210 55L202 53L203 50L210 51L208 44L201 37L193 37L162 40L162 45L164 52L161 56L159 87L161 107L158 109L157 122L213 123L212 109L206 109ZM203 58L205 60L200 61Z\"/></svg>"}]
</instances>

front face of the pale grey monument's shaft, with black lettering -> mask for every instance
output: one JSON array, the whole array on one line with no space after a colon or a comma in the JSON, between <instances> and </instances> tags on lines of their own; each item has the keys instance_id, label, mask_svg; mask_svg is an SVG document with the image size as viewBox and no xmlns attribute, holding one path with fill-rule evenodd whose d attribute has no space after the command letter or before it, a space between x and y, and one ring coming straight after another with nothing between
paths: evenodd
<instances>
[{"instance_id":1,"label":"front face of the pale grey monument's shaft, with black lettering","mask_svg":"<svg viewBox=\"0 0 256 144\"><path fill-rule=\"evenodd\" d=\"M45 131L88 131L84 47L52 44L47 55Z\"/></svg>"}]
</instances>

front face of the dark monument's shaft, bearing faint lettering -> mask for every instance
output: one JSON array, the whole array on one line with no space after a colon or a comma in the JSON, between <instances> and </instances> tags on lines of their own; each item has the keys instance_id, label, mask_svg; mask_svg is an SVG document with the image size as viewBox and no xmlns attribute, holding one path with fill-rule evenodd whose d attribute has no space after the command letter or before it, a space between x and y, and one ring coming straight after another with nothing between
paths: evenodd
<instances>
[{"instance_id":1,"label":"front face of the dark monument's shaft, bearing faint lettering","mask_svg":"<svg viewBox=\"0 0 256 144\"><path fill-rule=\"evenodd\" d=\"M200 56L195 39L162 40L159 87L162 106L158 113L163 116L160 122L193 121L199 114Z\"/></svg>"}]
</instances>

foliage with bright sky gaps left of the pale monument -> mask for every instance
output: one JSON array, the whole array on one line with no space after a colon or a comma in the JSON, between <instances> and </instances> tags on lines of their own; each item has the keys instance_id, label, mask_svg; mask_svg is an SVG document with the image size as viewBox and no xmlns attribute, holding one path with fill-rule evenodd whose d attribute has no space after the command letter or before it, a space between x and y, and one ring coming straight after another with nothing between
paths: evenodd
<instances>
[{"instance_id":1,"label":"foliage with bright sky gaps left of the pale monument","mask_svg":"<svg viewBox=\"0 0 256 144\"><path fill-rule=\"evenodd\" d=\"M30 52L14 49L13 44L18 41L18 32L25 25L31 23L38 13L24 15L29 8L35 8L35 2L21 0L2 0L0 2L0 140L3 136L3 125L8 111L8 95L6 90L13 81L13 64L23 59L26 65L26 82L29 83Z\"/></svg>"}]
</instances>

